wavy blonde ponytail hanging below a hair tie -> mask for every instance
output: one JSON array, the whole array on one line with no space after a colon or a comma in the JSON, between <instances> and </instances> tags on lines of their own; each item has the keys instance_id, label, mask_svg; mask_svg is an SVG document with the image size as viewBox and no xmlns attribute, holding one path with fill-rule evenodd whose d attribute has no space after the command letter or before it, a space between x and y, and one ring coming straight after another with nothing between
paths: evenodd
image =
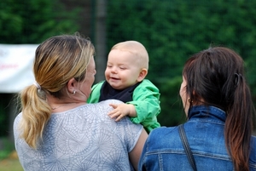
<instances>
[{"instance_id":1,"label":"wavy blonde ponytail hanging below a hair tie","mask_svg":"<svg viewBox=\"0 0 256 171\"><path fill-rule=\"evenodd\" d=\"M44 126L48 122L51 109L46 102L44 90L31 85L20 93L22 119L21 138L32 148L37 148L38 138L42 139Z\"/></svg>"}]
</instances>

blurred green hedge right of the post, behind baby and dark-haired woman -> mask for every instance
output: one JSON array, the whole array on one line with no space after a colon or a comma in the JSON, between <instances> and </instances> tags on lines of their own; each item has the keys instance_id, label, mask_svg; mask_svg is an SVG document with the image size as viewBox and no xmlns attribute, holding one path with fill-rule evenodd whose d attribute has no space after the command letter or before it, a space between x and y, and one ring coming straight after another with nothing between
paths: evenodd
<instances>
[{"instance_id":1,"label":"blurred green hedge right of the post, behind baby and dark-haired woman","mask_svg":"<svg viewBox=\"0 0 256 171\"><path fill-rule=\"evenodd\" d=\"M166 102L177 100L177 94L166 94L166 89L178 93L175 80L181 77L185 60L191 54L216 45L233 48L241 54L247 64L248 83L256 102L255 8L256 1L244 0L109 1L108 49L115 43L131 39L148 49L148 79L160 88L160 116L166 116L165 112L180 115L182 105ZM181 121L171 114L167 117L159 117L162 125Z\"/></svg>"}]
</instances>

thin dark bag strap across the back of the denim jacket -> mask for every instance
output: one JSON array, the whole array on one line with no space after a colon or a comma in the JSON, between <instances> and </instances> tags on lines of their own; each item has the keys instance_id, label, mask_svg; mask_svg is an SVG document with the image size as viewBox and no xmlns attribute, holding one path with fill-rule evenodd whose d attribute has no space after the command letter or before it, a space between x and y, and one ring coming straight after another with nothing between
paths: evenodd
<instances>
[{"instance_id":1,"label":"thin dark bag strap across the back of the denim jacket","mask_svg":"<svg viewBox=\"0 0 256 171\"><path fill-rule=\"evenodd\" d=\"M197 168L196 168L196 165L195 165L195 158L193 157L192 151L189 147L189 142L187 140L187 137L186 137L186 134L185 134L185 131L184 131L184 128L183 128L183 124L179 125L177 128L178 128L178 133L179 133L180 139L183 142L183 147L184 147L185 152L187 154L187 157L189 159L189 163L192 166L193 170L196 171Z\"/></svg>"}]
</instances>

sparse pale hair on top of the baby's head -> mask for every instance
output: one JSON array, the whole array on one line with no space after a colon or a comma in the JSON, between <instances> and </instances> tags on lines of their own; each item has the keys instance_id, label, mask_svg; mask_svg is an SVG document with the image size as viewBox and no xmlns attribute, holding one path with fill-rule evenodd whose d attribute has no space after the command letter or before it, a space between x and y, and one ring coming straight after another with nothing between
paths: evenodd
<instances>
[{"instance_id":1,"label":"sparse pale hair on top of the baby's head","mask_svg":"<svg viewBox=\"0 0 256 171\"><path fill-rule=\"evenodd\" d=\"M113 48L111 48L111 50L113 49L125 50L131 52L132 54L135 54L135 57L137 57L137 64L140 67L148 70L148 52L142 43L139 43L137 41L125 41L115 44Z\"/></svg>"}]
</instances>

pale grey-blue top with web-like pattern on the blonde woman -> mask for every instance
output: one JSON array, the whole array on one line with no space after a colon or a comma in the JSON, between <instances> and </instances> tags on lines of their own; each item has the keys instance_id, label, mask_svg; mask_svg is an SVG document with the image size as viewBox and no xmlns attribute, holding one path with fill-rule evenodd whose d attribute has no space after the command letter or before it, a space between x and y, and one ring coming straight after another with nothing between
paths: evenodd
<instances>
[{"instance_id":1,"label":"pale grey-blue top with web-like pattern on the blonde woman","mask_svg":"<svg viewBox=\"0 0 256 171\"><path fill-rule=\"evenodd\" d=\"M106 100L53 113L44 129L38 149L20 139L22 113L15 118L15 148L25 170L133 170L128 153L132 151L143 126L124 117L115 122L108 117L113 108Z\"/></svg>"}]
</instances>

